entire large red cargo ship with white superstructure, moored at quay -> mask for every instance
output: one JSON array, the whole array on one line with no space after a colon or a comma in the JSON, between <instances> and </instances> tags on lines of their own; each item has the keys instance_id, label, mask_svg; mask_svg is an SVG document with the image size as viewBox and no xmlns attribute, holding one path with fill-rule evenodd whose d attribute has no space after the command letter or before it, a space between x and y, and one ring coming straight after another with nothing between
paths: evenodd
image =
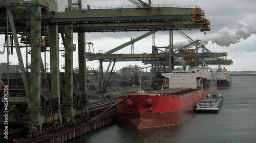
<instances>
[{"instance_id":1,"label":"entire large red cargo ship with white superstructure, moored at quay","mask_svg":"<svg viewBox=\"0 0 256 143\"><path fill-rule=\"evenodd\" d=\"M139 88L118 95L118 126L146 129L184 122L198 101L217 90L216 80L207 79L207 75L211 75L207 68L162 73L162 90L145 92Z\"/></svg>"}]
</instances>

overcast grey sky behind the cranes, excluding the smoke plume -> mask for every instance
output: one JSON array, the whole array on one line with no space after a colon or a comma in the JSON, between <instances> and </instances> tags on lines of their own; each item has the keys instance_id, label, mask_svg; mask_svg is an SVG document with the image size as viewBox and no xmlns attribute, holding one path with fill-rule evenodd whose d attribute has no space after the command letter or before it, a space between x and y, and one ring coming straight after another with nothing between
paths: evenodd
<instances>
[{"instance_id":1,"label":"overcast grey sky behind the cranes, excluding the smoke plume","mask_svg":"<svg viewBox=\"0 0 256 143\"><path fill-rule=\"evenodd\" d=\"M58 11L65 9L68 5L68 0L58 1ZM61 3L60 3L61 2ZM147 3L147 1L144 1ZM196 0L183 0L183 1L156 1L152 0L152 4L178 4L178 5L197 5L200 6L205 11L205 16L210 20L211 31L206 32L204 35L199 30L198 31L183 31L190 38L196 40L201 39L202 42L208 43L206 47L212 52L228 52L227 59L233 60L232 66L225 66L230 71L255 71L255 61L256 61L256 13L255 6L256 1L245 0L245 1L196 1ZM94 0L94 1L82 1L82 6L90 5L91 8L94 6L116 6L116 5L133 5L127 0ZM94 43L94 50L98 52L102 50L103 52L115 48L127 41L131 40L131 37L136 38L146 32L128 32L128 33L86 33L86 41ZM77 43L75 40L77 38L74 34L74 44ZM156 33L156 46L168 46L168 32L158 32ZM174 43L184 42L183 39L177 32L174 32ZM214 41L214 44L211 44ZM0 43L4 43L4 39L0 39ZM2 44L1 44L2 45ZM149 36L139 42L135 43L135 53L151 53L152 46L152 36ZM0 51L3 50L3 46L0 46ZM15 51L14 51L15 52ZM125 47L123 50L117 53L131 53L131 46ZM16 53L10 55L10 62L17 64ZM23 53L24 59L25 53ZM78 67L77 51L74 52L74 68ZM44 56L44 55L42 55ZM1 62L7 62L6 54L0 55ZM48 58L49 59L49 58ZM64 64L62 61L64 59L60 58L60 65ZM50 63L47 60L47 63ZM106 64L104 64L106 65ZM138 66L150 66L143 65L141 62L118 62L116 63L115 70L128 65L138 65ZM97 68L99 66L98 61L87 62L87 66ZM217 66L214 66L217 67ZM107 67L104 66L106 69Z\"/></svg>"}]
</instances>

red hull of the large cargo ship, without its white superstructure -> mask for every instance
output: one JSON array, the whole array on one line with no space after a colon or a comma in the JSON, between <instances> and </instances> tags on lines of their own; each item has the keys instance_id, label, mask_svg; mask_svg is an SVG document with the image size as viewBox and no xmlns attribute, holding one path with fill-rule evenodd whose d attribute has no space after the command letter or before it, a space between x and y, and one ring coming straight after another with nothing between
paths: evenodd
<instances>
[{"instance_id":1,"label":"red hull of the large cargo ship, without its white superstructure","mask_svg":"<svg viewBox=\"0 0 256 143\"><path fill-rule=\"evenodd\" d=\"M168 90L175 90L178 95L183 95L177 96L172 93L174 91ZM195 104L199 100L212 93L212 89L168 90L154 91L154 94L131 93L117 97L118 126L146 129L180 124L194 113ZM150 103L152 105L149 105Z\"/></svg>"}]
</instances>

